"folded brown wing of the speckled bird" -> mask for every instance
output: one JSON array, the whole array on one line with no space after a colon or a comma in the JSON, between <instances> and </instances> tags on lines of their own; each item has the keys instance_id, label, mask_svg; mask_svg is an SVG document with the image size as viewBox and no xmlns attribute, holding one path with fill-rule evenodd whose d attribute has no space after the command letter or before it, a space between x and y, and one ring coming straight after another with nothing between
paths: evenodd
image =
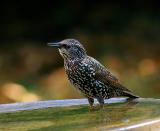
<instances>
[{"instance_id":1,"label":"folded brown wing of the speckled bird","mask_svg":"<svg viewBox=\"0 0 160 131\"><path fill-rule=\"evenodd\" d=\"M92 68L95 70L95 78L106 85L109 85L110 87L114 88L115 90L120 90L124 92L124 94L130 96L130 97L138 97L132 94L130 90L128 90L126 87L124 87L122 84L119 83L118 79L112 75L103 65L101 65L97 60L95 60L92 57L89 57L90 61L92 61L91 65Z\"/></svg>"}]
</instances>

